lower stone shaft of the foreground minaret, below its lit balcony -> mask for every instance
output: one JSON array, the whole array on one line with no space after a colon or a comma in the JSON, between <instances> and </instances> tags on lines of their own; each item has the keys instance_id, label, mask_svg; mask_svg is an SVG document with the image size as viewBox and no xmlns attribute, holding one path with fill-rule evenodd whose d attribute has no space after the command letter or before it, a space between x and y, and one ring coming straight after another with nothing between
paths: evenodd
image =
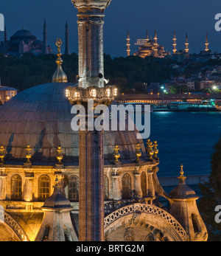
<instances>
[{"instance_id":1,"label":"lower stone shaft of the foreground minaret, below its lit balcony","mask_svg":"<svg viewBox=\"0 0 221 256\"><path fill-rule=\"evenodd\" d=\"M79 240L104 241L103 131L80 131Z\"/></svg>"}]
</instances>

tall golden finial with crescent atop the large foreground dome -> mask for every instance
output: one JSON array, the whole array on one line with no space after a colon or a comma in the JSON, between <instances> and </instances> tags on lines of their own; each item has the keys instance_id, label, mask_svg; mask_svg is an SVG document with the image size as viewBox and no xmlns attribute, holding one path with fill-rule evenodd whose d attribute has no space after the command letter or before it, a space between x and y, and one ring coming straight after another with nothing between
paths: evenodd
<instances>
[{"instance_id":1,"label":"tall golden finial with crescent atop the large foreground dome","mask_svg":"<svg viewBox=\"0 0 221 256\"><path fill-rule=\"evenodd\" d=\"M67 83L68 79L67 79L66 73L63 72L63 69L61 67L63 60L62 58L60 58L60 56L62 55L60 52L60 47L62 46L62 41L60 40L60 38L59 39L57 38L56 45L57 45L57 60L56 60L57 70L52 77L52 83Z\"/></svg>"}]
</instances>

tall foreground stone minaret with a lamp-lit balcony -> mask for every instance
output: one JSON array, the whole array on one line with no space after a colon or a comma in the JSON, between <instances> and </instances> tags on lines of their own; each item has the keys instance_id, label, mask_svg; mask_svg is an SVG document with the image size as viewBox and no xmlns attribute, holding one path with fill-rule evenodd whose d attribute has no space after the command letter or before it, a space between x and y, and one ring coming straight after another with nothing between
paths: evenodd
<instances>
[{"instance_id":1,"label":"tall foreground stone minaret with a lamp-lit balcony","mask_svg":"<svg viewBox=\"0 0 221 256\"><path fill-rule=\"evenodd\" d=\"M117 94L115 86L104 86L103 18L111 0L72 3L78 11L79 75L78 86L66 94L71 105L86 108L79 128L79 240L104 241L104 130L94 128L94 108L110 105Z\"/></svg>"}]
</instances>

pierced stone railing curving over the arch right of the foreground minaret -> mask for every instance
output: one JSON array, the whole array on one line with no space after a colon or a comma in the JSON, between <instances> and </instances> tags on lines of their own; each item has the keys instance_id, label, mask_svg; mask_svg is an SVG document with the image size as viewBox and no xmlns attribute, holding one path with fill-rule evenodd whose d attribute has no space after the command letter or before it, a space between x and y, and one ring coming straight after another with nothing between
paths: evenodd
<instances>
[{"instance_id":1,"label":"pierced stone railing curving over the arch right of the foreground minaret","mask_svg":"<svg viewBox=\"0 0 221 256\"><path fill-rule=\"evenodd\" d=\"M176 229L183 241L186 241L186 231L183 229L183 226L181 226L168 212L151 204L130 204L112 212L110 215L105 217L105 228L118 218L136 212L144 212L164 218L164 221Z\"/></svg>"}]
</instances>

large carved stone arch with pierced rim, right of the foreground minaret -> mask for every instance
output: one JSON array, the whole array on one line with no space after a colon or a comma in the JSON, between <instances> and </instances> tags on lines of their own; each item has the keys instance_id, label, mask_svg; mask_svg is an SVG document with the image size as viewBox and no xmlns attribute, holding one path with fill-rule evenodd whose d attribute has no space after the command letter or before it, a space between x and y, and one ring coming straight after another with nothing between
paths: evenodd
<instances>
[{"instance_id":1,"label":"large carved stone arch with pierced rim, right of the foreground minaret","mask_svg":"<svg viewBox=\"0 0 221 256\"><path fill-rule=\"evenodd\" d=\"M183 226L169 212L152 204L130 204L106 216L105 237L108 238L120 228L125 229L125 226L131 226L133 229L150 229L152 226L152 229L164 236L165 241L186 241Z\"/></svg>"}]
</instances>

